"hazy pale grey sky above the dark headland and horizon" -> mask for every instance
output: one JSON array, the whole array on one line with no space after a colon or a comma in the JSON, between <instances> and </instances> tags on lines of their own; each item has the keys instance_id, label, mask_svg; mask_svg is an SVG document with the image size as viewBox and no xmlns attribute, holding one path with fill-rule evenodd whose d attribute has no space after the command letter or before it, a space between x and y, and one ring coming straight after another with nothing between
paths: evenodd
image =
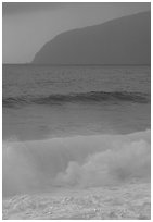
<instances>
[{"instance_id":1,"label":"hazy pale grey sky above the dark headland and horizon","mask_svg":"<svg viewBox=\"0 0 153 222\"><path fill-rule=\"evenodd\" d=\"M150 10L146 2L2 3L3 63L30 62L55 35Z\"/></svg>"}]
</instances>

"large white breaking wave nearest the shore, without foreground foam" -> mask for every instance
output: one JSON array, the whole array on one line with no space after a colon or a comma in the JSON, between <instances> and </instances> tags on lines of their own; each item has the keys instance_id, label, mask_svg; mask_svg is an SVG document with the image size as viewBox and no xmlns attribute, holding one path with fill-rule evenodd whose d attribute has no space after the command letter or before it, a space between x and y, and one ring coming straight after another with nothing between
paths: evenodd
<instances>
[{"instance_id":1,"label":"large white breaking wave nearest the shore, without foreground foam","mask_svg":"<svg viewBox=\"0 0 153 222\"><path fill-rule=\"evenodd\" d=\"M150 177L150 131L3 143L3 196Z\"/></svg>"}]
</instances>

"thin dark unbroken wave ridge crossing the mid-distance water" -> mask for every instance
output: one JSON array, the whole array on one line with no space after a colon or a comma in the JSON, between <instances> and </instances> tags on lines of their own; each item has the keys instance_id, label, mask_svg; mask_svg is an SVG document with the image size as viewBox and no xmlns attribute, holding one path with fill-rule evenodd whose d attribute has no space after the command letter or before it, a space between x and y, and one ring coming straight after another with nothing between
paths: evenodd
<instances>
[{"instance_id":1,"label":"thin dark unbroken wave ridge crossing the mid-distance water","mask_svg":"<svg viewBox=\"0 0 153 222\"><path fill-rule=\"evenodd\" d=\"M7 108L24 106L29 103L36 104L61 104L64 102L119 102L131 101L138 103L148 103L150 101L149 94L127 92L127 91L89 91L68 95L50 95L50 96L21 96L3 98L2 104Z\"/></svg>"}]
</instances>

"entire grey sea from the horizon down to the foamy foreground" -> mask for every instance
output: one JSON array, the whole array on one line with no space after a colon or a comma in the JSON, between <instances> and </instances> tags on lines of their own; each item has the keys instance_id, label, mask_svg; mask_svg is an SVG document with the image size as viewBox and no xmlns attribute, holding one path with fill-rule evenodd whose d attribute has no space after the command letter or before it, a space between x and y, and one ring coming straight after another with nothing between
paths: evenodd
<instances>
[{"instance_id":1,"label":"entire grey sea from the horizon down to the foamy foreground","mask_svg":"<svg viewBox=\"0 0 153 222\"><path fill-rule=\"evenodd\" d=\"M2 72L4 219L11 219L12 212L13 219L18 217L21 197L24 219L31 202L36 211L35 215L30 211L30 219L60 219L62 212L66 218L60 211L65 207L56 201L64 195L73 196L71 207L82 208L82 196L85 203L93 193L98 198L103 192L116 195L116 190L120 193L110 199L104 219L113 217L114 206L126 205L127 193L137 197L128 199L124 219L150 219L150 66L27 64L3 65ZM53 208L62 206L59 211L40 213L40 199L34 198L40 194L41 198L50 194ZM46 198L41 201L47 207ZM99 205L107 205L104 196L101 200ZM71 210L68 219L102 217L89 206L87 213L87 205L81 215L76 207ZM113 219L120 217L117 210Z\"/></svg>"}]
</instances>

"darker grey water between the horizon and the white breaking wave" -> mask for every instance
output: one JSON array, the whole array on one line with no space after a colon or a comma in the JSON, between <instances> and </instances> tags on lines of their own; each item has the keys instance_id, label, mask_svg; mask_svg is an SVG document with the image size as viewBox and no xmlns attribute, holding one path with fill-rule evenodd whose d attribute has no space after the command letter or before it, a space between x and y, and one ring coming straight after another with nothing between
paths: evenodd
<instances>
[{"instance_id":1,"label":"darker grey water between the horizon and the white breaking wave","mask_svg":"<svg viewBox=\"0 0 153 222\"><path fill-rule=\"evenodd\" d=\"M3 139L150 128L150 66L3 65Z\"/></svg>"}]
</instances>

